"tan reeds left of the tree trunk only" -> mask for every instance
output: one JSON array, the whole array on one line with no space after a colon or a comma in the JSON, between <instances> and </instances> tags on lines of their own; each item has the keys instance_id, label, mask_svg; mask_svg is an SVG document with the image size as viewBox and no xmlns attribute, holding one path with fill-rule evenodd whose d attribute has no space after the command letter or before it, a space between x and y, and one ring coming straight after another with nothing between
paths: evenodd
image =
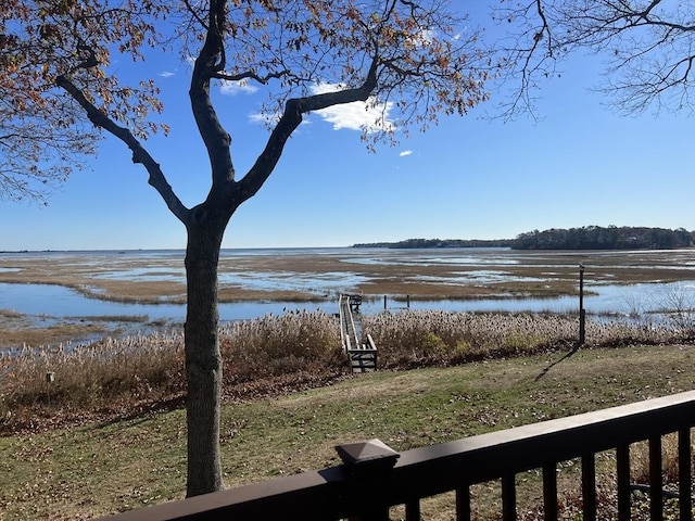
<instances>
[{"instance_id":1,"label":"tan reeds left of the tree trunk only","mask_svg":"<svg viewBox=\"0 0 695 521\"><path fill-rule=\"evenodd\" d=\"M157 402L182 389L181 346L182 335L175 332L48 350L24 346L0 358L0 418L40 424L55 416Z\"/></svg>"}]
</instances>

